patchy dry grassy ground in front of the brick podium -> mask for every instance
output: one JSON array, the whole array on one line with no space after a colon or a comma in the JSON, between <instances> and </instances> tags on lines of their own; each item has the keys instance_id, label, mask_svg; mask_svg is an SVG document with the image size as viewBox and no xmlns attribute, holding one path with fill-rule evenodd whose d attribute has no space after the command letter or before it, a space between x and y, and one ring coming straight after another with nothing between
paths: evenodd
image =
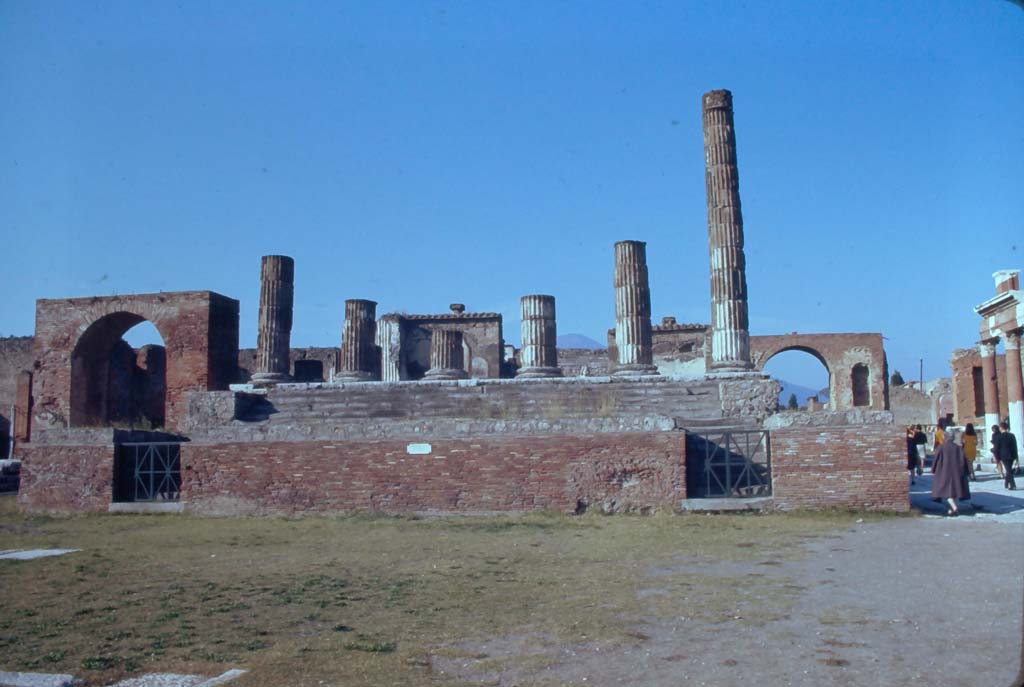
<instances>
[{"instance_id":1,"label":"patchy dry grassy ground in front of the brick podium","mask_svg":"<svg viewBox=\"0 0 1024 687\"><path fill-rule=\"evenodd\" d=\"M89 685L234 667L251 671L240 687L451 684L431 657L497 665L582 637L628 645L642 641L638 619L683 610L700 622L778 617L799 588L683 575L672 562L770 565L856 517L55 519L0 499L0 548L82 549L0 561L0 670ZM482 655L496 637L516 650Z\"/></svg>"}]
</instances>

